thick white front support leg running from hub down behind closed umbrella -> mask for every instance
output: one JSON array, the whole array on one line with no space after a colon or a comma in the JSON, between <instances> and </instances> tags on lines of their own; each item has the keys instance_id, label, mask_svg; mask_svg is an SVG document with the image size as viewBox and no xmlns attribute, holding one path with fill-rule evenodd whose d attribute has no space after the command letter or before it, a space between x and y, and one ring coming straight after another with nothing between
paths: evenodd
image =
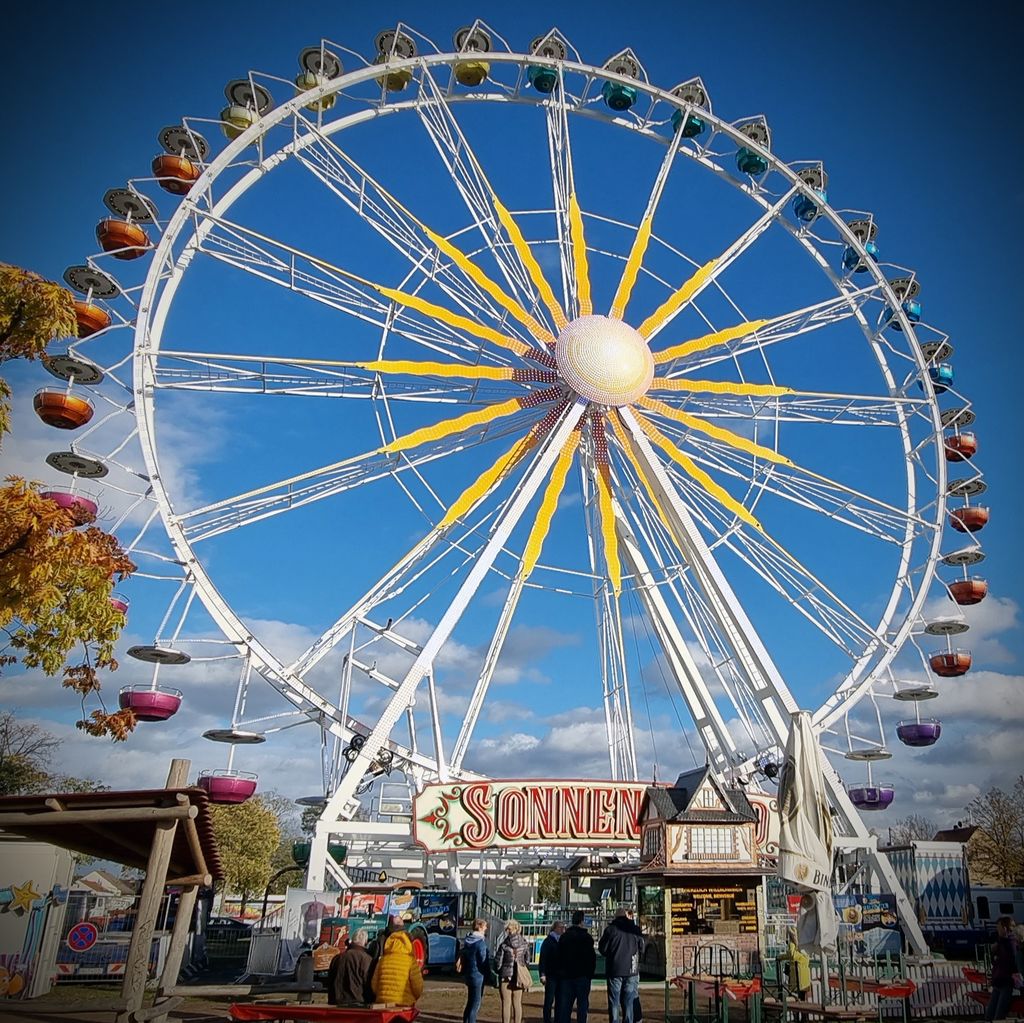
<instances>
[{"instance_id":1,"label":"thick white front support leg running from hub down behind closed umbrella","mask_svg":"<svg viewBox=\"0 0 1024 1023\"><path fill-rule=\"evenodd\" d=\"M712 556L685 504L672 485L660 460L650 446L647 435L640 429L630 410L622 410L622 416L633 437L637 458L648 481L658 496L662 508L672 523L676 540L680 544L694 577L705 591L716 616L719 617L722 629L736 654L737 662L744 669L750 680L754 695L764 710L771 735L775 743L780 749L784 749L790 732L790 716L799 710L797 701L782 680L782 676L772 662L768 650L761 642L753 624L746 616L746 612L736 599L736 595L732 592L724 573ZM699 705L694 708L694 711L699 712ZM868 834L867 827L861 820L860 814L857 813L856 807L850 802L850 797L835 768L821 753L820 745L818 756L821 760L828 799L839 812L840 823L845 826L845 830L850 836L850 841L846 844L867 850L872 867L884 879L896 897L903 933L908 942L919 954L928 954L928 943L925 941L921 925L918 923L918 915L896 877L896 871L893 870L888 857L878 851L876 838Z\"/></svg>"}]
</instances>

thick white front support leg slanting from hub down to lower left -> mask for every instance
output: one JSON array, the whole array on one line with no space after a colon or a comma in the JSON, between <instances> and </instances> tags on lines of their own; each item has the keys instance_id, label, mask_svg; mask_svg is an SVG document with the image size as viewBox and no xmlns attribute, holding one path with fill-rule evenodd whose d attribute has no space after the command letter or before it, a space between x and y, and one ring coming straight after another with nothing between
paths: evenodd
<instances>
[{"instance_id":1,"label":"thick white front support leg slanting from hub down to lower left","mask_svg":"<svg viewBox=\"0 0 1024 1023\"><path fill-rule=\"evenodd\" d=\"M490 570L490 566L494 564L498 554L508 542L513 528L522 517L534 495L537 494L538 489L544 483L551 467L561 454L562 445L580 421L580 417L584 414L585 409L586 402L582 399L574 402L562 416L558 426L548 435L541 454L535 459L534 464L523 477L515 497L495 523L486 546L473 561L472 567L459 588L459 592L441 615L430 638L423 644L422 650L416 660L413 662L413 666L410 668L406 678L395 690L380 720L374 726L374 730L367 736L367 741L362 749L359 750L358 756L352 762L352 766L348 769L341 783L328 801L316 824L316 832L311 843L309 869L306 873L306 887L319 888L323 884L325 864L328 860L328 838L331 834L332 824L338 820L342 812L347 810L348 804L355 796L355 790L360 778L391 734L391 729L409 706L420 682L427 672L431 670L434 658L452 635L467 605Z\"/></svg>"}]
</instances>

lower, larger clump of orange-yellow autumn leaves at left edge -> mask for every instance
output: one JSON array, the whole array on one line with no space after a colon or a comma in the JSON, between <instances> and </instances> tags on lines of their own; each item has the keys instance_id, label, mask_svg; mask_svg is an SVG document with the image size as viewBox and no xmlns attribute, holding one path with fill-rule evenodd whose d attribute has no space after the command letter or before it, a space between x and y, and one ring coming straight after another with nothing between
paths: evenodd
<instances>
[{"instance_id":1,"label":"lower, larger clump of orange-yellow autumn leaves at left edge","mask_svg":"<svg viewBox=\"0 0 1024 1023\"><path fill-rule=\"evenodd\" d=\"M47 675L63 670L63 685L82 696L79 727L123 739L135 725L130 711L109 713L98 671L115 670L114 644L124 615L111 603L115 581L135 566L117 540L91 525L82 510L61 508L36 484L8 477L0 486L0 670L20 662ZM84 527L84 528L83 528ZM81 646L80 663L67 665ZM87 697L100 708L85 711Z\"/></svg>"}]
</instances>

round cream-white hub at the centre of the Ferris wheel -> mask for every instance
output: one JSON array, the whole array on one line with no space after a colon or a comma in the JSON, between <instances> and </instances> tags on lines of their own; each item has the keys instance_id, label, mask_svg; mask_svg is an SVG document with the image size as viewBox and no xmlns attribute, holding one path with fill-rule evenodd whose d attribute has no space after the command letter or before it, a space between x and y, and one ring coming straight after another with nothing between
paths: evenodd
<instances>
[{"instance_id":1,"label":"round cream-white hub at the centre of the Ferris wheel","mask_svg":"<svg viewBox=\"0 0 1024 1023\"><path fill-rule=\"evenodd\" d=\"M562 379L601 404L624 406L650 387L654 357L629 324L608 316L580 316L565 325L555 345Z\"/></svg>"}]
</instances>

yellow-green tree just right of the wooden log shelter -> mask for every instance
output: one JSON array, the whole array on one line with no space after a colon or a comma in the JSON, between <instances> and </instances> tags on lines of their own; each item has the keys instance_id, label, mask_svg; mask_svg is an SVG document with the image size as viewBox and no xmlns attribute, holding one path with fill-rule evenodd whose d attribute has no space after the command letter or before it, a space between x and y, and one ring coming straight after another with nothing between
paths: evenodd
<instances>
[{"instance_id":1,"label":"yellow-green tree just right of the wooden log shelter","mask_svg":"<svg viewBox=\"0 0 1024 1023\"><path fill-rule=\"evenodd\" d=\"M214 806L213 830L224 865L224 892L238 895L241 912L262 895L273 870L281 827L273 808L255 796L236 806Z\"/></svg>"}]
</instances>

